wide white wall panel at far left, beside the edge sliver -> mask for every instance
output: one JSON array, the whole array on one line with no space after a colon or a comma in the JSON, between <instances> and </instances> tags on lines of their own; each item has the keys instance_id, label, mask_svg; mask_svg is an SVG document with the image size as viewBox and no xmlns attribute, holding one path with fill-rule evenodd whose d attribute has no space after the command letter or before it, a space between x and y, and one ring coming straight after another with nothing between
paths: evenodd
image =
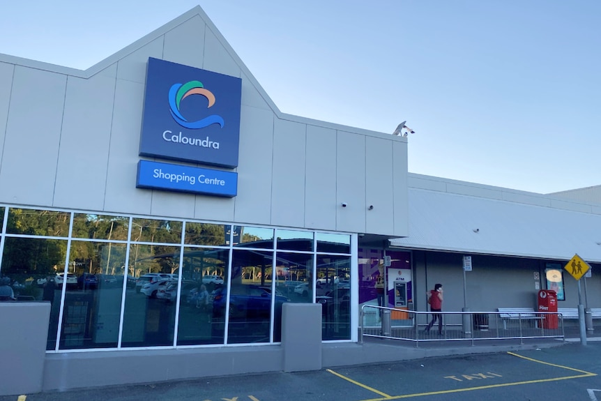
<instances>
[{"instance_id":1,"label":"wide white wall panel at far left, beside the edge sliver","mask_svg":"<svg viewBox=\"0 0 601 401\"><path fill-rule=\"evenodd\" d=\"M52 205L66 76L15 67L0 166L0 200Z\"/></svg>"}]
</instances>

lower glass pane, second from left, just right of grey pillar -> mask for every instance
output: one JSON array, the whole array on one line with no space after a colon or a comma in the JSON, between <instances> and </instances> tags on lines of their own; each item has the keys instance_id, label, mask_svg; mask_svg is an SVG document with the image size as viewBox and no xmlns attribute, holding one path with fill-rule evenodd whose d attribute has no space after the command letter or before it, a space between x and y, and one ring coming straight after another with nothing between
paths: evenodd
<instances>
[{"instance_id":1,"label":"lower glass pane, second from left, just right of grey pillar","mask_svg":"<svg viewBox=\"0 0 601 401\"><path fill-rule=\"evenodd\" d=\"M126 250L123 243L71 242L77 285L65 294L60 349L117 347Z\"/></svg>"}]
</instances>

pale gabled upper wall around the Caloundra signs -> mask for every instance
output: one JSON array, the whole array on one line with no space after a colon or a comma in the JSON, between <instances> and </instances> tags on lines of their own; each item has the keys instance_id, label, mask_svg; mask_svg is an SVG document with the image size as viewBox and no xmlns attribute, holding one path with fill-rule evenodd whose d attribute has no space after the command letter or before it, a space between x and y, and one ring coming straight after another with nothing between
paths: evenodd
<instances>
[{"instance_id":1,"label":"pale gabled upper wall around the Caloundra signs","mask_svg":"<svg viewBox=\"0 0 601 401\"><path fill-rule=\"evenodd\" d=\"M149 57L243 80L234 199L135 188ZM0 54L0 139L6 204L407 234L406 139L282 114L199 8L86 71Z\"/></svg>"}]
</instances>

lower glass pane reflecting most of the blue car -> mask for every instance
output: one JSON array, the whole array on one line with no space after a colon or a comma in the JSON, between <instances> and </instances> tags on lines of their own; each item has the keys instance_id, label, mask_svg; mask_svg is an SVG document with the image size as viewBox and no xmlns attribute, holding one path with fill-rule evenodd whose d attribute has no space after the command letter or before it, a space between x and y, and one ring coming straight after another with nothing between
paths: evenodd
<instances>
[{"instance_id":1,"label":"lower glass pane reflecting most of the blue car","mask_svg":"<svg viewBox=\"0 0 601 401\"><path fill-rule=\"evenodd\" d=\"M273 280L273 252L234 250L231 262L229 292L229 325L227 342L270 342L271 285ZM213 301L215 315L225 315L225 297ZM288 301L276 295L276 310ZM281 326L281 313L276 314L276 325Z\"/></svg>"}]
</instances>

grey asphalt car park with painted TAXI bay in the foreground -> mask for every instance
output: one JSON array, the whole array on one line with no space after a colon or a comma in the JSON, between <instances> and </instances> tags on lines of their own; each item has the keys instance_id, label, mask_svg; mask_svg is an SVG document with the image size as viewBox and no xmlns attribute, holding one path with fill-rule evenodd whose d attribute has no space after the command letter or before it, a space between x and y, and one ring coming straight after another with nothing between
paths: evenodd
<instances>
[{"instance_id":1,"label":"grey asphalt car park with painted TAXI bay in the foreground","mask_svg":"<svg viewBox=\"0 0 601 401\"><path fill-rule=\"evenodd\" d=\"M312 372L207 377L0 397L0 401L600 400L600 342Z\"/></svg>"}]
</instances>

